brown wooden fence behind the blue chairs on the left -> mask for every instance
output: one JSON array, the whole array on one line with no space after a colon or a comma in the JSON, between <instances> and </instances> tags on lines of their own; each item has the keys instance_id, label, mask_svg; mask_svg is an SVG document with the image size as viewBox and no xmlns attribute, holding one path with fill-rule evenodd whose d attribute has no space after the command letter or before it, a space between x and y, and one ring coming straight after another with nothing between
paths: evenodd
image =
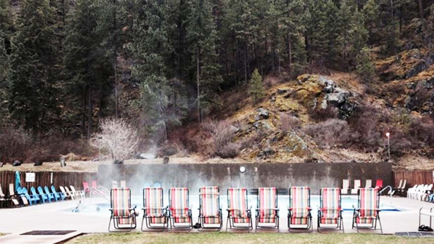
<instances>
[{"instance_id":1,"label":"brown wooden fence behind the blue chairs on the left","mask_svg":"<svg viewBox=\"0 0 434 244\"><path fill-rule=\"evenodd\" d=\"M35 182L26 182L26 172L20 172L21 186L26 187L28 190L38 186L54 185L57 190L59 186L74 186L75 189L83 188L83 181L97 179L97 173L79 173L79 172L27 172L35 173ZM0 184L4 195L9 195L8 186L10 183L15 184L15 172L13 171L0 171Z\"/></svg>"}]
</instances>

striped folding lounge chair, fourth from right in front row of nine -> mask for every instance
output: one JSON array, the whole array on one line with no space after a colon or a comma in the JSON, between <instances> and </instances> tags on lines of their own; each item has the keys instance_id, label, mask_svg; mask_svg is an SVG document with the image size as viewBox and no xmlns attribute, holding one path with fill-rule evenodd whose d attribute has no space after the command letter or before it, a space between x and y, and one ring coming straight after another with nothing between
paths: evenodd
<instances>
[{"instance_id":1,"label":"striped folding lounge chair, fourth from right in front row of nine","mask_svg":"<svg viewBox=\"0 0 434 244\"><path fill-rule=\"evenodd\" d=\"M279 230L279 208L275 187L258 188L255 220L256 229L277 228Z\"/></svg>"}]
</instances>

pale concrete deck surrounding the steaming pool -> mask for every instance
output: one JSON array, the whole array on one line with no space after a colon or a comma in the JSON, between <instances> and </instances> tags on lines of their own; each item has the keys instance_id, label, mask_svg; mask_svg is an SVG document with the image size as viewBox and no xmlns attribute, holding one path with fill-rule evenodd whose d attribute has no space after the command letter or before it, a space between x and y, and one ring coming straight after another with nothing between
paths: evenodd
<instances>
[{"instance_id":1,"label":"pale concrete deck surrounding the steaming pool","mask_svg":"<svg viewBox=\"0 0 434 244\"><path fill-rule=\"evenodd\" d=\"M72 209L77 206L79 200L66 201L59 203L50 203L37 206L30 206L17 209L0 209L0 216L3 221L0 221L0 233L21 234L33 230L75 230L80 233L104 233L108 232L109 212L107 215L89 215L86 213L72 213L67 211L60 211L60 209ZM85 200L89 201L88 199ZM104 201L103 199L92 199L93 203L97 201ZM384 234L394 234L395 232L410 232L417 231L419 215L418 211L421 207L433 208L434 204L426 203L406 198L390 198L381 197L381 203L385 205L394 206L402 211L383 211L381 212L381 222L383 224ZM317 212L316 206L313 207L313 226L314 231L317 229ZM140 209L141 206L138 206ZM223 206L223 209L225 207ZM223 213L223 229L225 226L225 216ZM288 233L287 230L287 211L282 209L280 212L280 232ZM142 224L142 212L138 217L138 225ZM351 229L352 225L352 212L345 211L343 214L345 233L356 233L356 230ZM4 221L7 220L7 221ZM253 220L254 221L254 220ZM428 218L423 219L424 224L428 224ZM197 222L197 206L193 206L193 223ZM137 228L136 231L140 231ZM196 232L197 230L191 230ZM258 230L263 232L270 232L275 230ZM253 231L251 231L253 232ZM325 232L325 231L323 231ZM333 231L338 232L338 231ZM379 230L361 230L362 233L380 233ZM0 237L0 242L6 239L9 235Z\"/></svg>"}]
</instances>

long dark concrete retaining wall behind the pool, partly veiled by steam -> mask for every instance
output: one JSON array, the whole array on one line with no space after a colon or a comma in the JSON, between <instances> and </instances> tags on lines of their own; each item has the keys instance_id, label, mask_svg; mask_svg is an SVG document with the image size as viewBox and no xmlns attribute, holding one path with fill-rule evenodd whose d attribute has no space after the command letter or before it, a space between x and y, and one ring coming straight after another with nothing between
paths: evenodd
<instances>
[{"instance_id":1,"label":"long dark concrete retaining wall behind the pool, partly veiled by steam","mask_svg":"<svg viewBox=\"0 0 434 244\"><path fill-rule=\"evenodd\" d=\"M245 166L245 173L240 167ZM221 192L228 187L289 188L289 186L310 186L314 194L321 187L341 187L342 179L383 179L383 185L393 184L390 163L334 163L334 164L153 164L153 165L100 165L98 181L100 185L111 187L112 180L126 180L127 186L139 191L144 185L158 182L164 189L169 187L189 187L197 192L200 186L216 185Z\"/></svg>"}]
</instances>

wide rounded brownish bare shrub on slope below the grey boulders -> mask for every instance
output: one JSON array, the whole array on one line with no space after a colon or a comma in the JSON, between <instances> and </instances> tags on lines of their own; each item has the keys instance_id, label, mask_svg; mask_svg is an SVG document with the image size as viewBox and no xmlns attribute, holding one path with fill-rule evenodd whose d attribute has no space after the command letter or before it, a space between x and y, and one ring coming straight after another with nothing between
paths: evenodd
<instances>
[{"instance_id":1,"label":"wide rounded brownish bare shrub on slope below the grey boulders","mask_svg":"<svg viewBox=\"0 0 434 244\"><path fill-rule=\"evenodd\" d=\"M342 145L351 139L351 131L345 120L327 119L326 121L304 127L306 134L322 147Z\"/></svg>"}]
</instances>

